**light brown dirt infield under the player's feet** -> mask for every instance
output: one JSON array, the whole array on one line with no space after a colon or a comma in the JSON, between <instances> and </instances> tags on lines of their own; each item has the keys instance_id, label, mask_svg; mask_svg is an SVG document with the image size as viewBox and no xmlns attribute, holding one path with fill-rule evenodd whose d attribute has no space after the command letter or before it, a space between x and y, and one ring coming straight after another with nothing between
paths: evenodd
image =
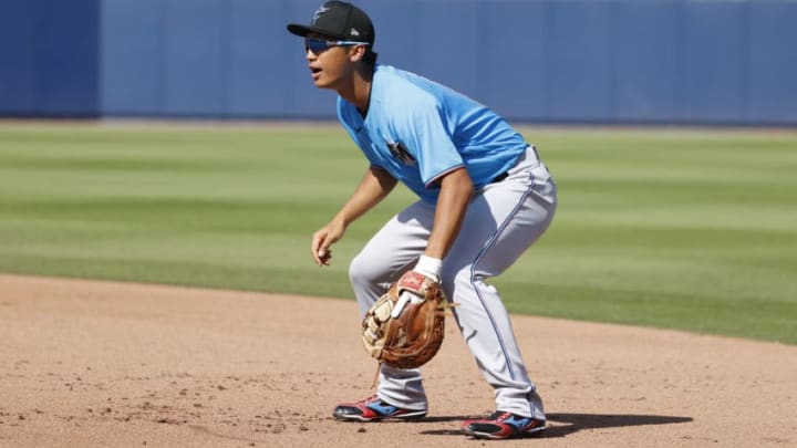
<instances>
[{"instance_id":1,"label":"light brown dirt infield under the player's feet","mask_svg":"<svg viewBox=\"0 0 797 448\"><path fill-rule=\"evenodd\" d=\"M454 325L429 417L351 424L375 365L353 301L0 275L0 447L789 447L797 347L515 316L541 439L472 440L493 410Z\"/></svg>"}]
</instances>

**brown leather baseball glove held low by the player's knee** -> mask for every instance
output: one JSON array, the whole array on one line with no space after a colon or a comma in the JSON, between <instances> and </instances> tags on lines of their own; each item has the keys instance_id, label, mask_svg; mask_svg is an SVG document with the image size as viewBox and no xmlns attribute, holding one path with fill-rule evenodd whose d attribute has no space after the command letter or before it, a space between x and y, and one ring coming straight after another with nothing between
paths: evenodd
<instances>
[{"instance_id":1,"label":"brown leather baseball glove held low by the player's knee","mask_svg":"<svg viewBox=\"0 0 797 448\"><path fill-rule=\"evenodd\" d=\"M443 344L445 310L452 306L438 282L408 271L365 314L363 345L393 367L420 367Z\"/></svg>"}]
</instances>

